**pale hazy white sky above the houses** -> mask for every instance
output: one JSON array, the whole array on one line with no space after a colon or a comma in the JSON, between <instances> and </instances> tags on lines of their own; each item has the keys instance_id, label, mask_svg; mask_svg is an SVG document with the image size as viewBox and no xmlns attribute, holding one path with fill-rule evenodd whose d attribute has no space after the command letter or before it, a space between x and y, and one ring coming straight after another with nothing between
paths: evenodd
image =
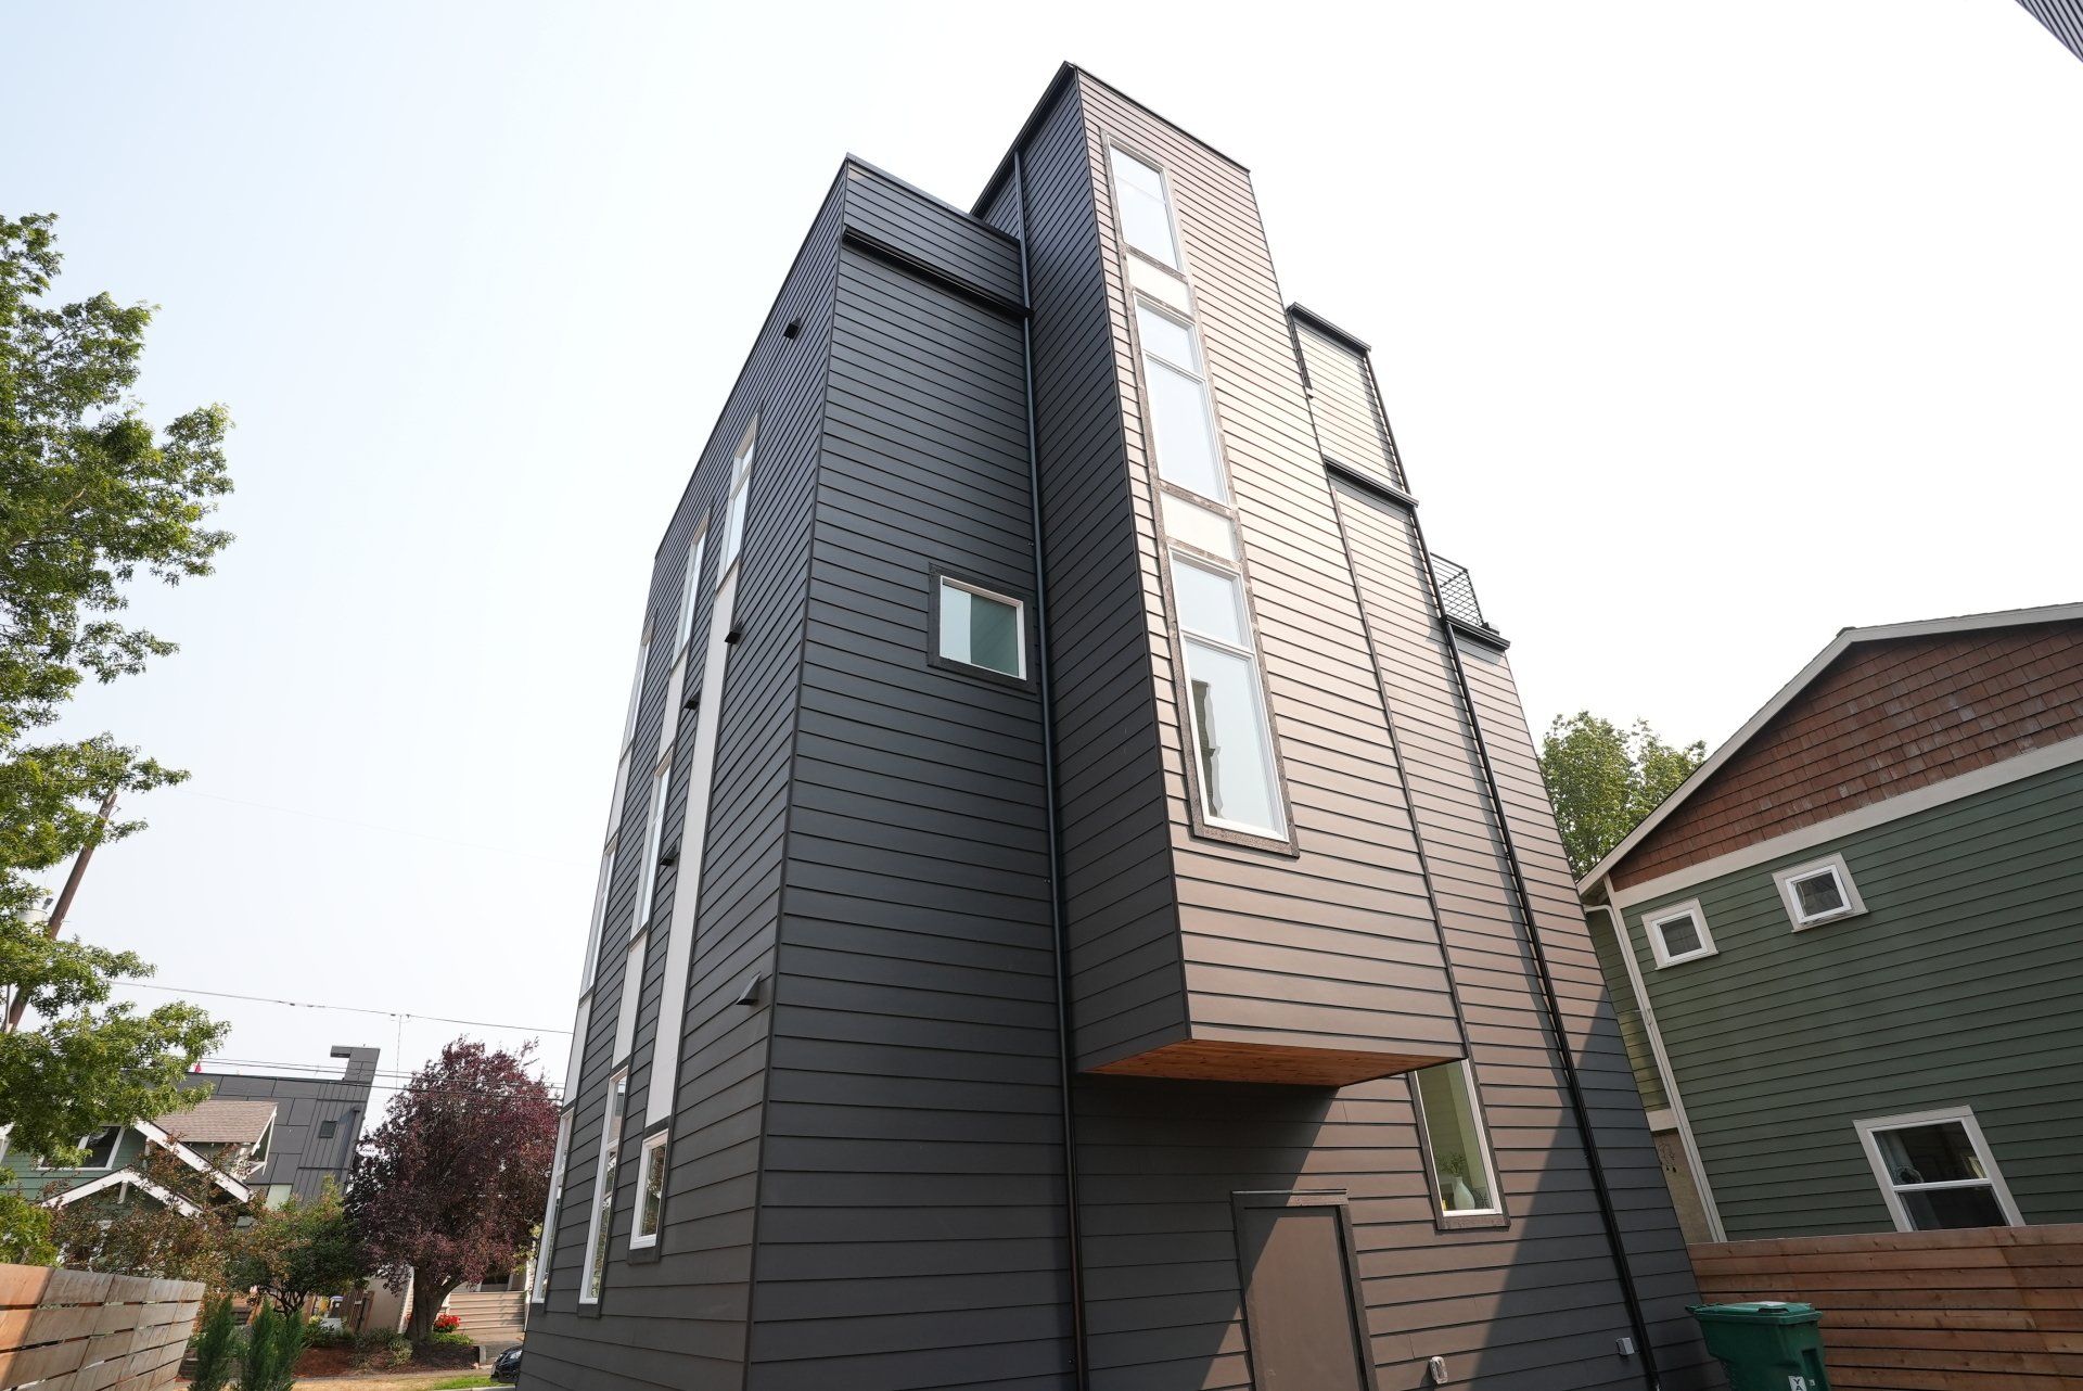
<instances>
[{"instance_id":1,"label":"pale hazy white sky above the houses","mask_svg":"<svg viewBox=\"0 0 2083 1391\"><path fill-rule=\"evenodd\" d=\"M1189 12L17 6L0 208L240 423L240 541L135 606L183 652L69 727L196 777L73 925L569 1027L652 550L810 212L846 150L967 206L1062 58L1254 169L1535 725L1712 743L1843 625L2083 598L2083 65L2010 0Z\"/></svg>"}]
</instances>

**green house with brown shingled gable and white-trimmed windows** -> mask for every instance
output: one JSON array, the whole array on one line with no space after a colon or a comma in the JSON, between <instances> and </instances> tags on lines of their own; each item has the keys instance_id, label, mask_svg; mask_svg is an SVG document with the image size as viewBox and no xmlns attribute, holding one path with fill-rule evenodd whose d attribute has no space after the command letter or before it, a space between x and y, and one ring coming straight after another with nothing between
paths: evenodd
<instances>
[{"instance_id":1,"label":"green house with brown shingled gable and white-trimmed windows","mask_svg":"<svg viewBox=\"0 0 2083 1391\"><path fill-rule=\"evenodd\" d=\"M2083 604L1846 629L1577 887L1691 1241L2083 1222Z\"/></svg>"}]
</instances>

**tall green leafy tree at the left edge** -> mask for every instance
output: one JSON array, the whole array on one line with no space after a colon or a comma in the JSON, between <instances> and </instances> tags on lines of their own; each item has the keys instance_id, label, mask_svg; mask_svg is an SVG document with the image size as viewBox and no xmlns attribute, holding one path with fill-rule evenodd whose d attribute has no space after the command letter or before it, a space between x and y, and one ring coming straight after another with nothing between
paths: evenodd
<instances>
[{"instance_id":1,"label":"tall green leafy tree at the left edge","mask_svg":"<svg viewBox=\"0 0 2083 1391\"><path fill-rule=\"evenodd\" d=\"M54 941L27 914L33 875L137 820L98 802L185 775L117 743L35 739L87 677L144 671L173 643L119 621L140 579L208 575L229 533L204 525L231 489L229 416L202 406L154 431L131 396L150 306L98 294L46 304L56 219L0 219L0 1129L8 1145L67 1158L81 1133L200 1102L175 1091L221 1037L187 1004L102 1008L131 954Z\"/></svg>"}]
</instances>

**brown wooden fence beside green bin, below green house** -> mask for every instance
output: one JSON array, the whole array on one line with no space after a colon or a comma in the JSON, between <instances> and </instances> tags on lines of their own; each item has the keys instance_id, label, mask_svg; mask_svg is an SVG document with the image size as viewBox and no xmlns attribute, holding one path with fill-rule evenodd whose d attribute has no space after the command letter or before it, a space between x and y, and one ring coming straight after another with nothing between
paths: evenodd
<instances>
[{"instance_id":1,"label":"brown wooden fence beside green bin, below green house","mask_svg":"<svg viewBox=\"0 0 2083 1391\"><path fill-rule=\"evenodd\" d=\"M1833 1391L2083 1391L2083 1224L1691 1247L1700 1297L1823 1312Z\"/></svg>"}]
</instances>

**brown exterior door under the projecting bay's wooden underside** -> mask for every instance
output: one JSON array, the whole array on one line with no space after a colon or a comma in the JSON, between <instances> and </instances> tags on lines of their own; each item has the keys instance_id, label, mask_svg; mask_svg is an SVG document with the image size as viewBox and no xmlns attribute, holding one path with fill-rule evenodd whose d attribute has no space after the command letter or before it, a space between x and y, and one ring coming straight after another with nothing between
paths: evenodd
<instances>
[{"instance_id":1,"label":"brown exterior door under the projecting bay's wooden underside","mask_svg":"<svg viewBox=\"0 0 2083 1391\"><path fill-rule=\"evenodd\" d=\"M1256 1391L1373 1391L1344 1193L1237 1193Z\"/></svg>"}]
</instances>

